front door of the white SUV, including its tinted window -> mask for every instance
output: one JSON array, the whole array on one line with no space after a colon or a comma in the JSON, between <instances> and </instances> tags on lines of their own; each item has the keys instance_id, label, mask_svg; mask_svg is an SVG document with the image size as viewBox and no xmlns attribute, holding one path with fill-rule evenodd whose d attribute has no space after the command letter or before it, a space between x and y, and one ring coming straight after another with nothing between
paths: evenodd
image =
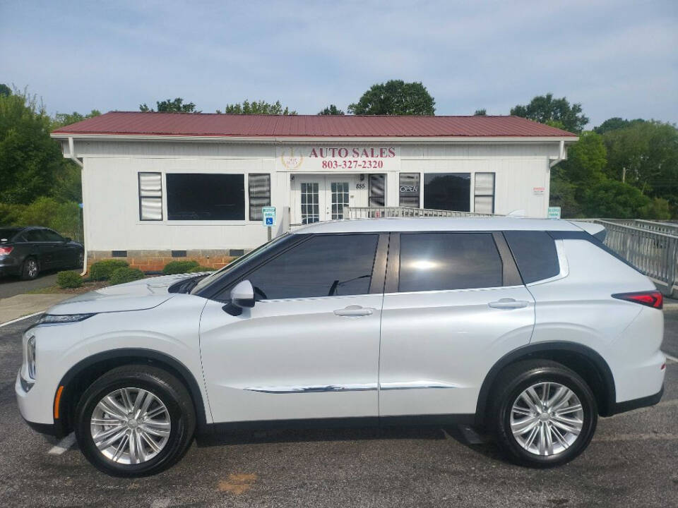
<instances>
[{"instance_id":1,"label":"front door of the white SUV, including its tinted window","mask_svg":"<svg viewBox=\"0 0 678 508\"><path fill-rule=\"evenodd\" d=\"M310 236L242 275L253 308L234 316L208 301L200 342L215 423L378 416L383 264L374 259L387 243Z\"/></svg>"}]
</instances>

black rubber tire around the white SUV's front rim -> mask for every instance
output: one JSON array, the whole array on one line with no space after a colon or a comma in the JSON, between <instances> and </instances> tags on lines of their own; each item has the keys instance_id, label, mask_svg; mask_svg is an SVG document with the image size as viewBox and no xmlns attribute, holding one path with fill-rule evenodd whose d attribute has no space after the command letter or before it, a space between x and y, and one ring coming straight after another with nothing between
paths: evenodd
<instances>
[{"instance_id":1,"label":"black rubber tire around the white SUV's front rim","mask_svg":"<svg viewBox=\"0 0 678 508\"><path fill-rule=\"evenodd\" d=\"M171 430L162 450L141 464L120 464L102 454L90 432L90 420L99 401L120 388L141 388L152 393L165 404ZM169 468L182 458L193 441L196 411L184 384L167 371L148 365L125 365L105 373L85 391L78 401L74 421L78 445L100 471L112 476L149 476Z\"/></svg>"}]
</instances>

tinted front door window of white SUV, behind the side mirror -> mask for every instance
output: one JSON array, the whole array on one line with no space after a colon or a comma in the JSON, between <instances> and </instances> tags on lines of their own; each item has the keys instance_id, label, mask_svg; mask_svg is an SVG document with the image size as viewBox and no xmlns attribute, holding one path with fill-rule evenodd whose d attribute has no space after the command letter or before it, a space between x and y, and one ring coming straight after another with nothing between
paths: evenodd
<instances>
[{"instance_id":1,"label":"tinted front door window of white SUV, behind the side mirror","mask_svg":"<svg viewBox=\"0 0 678 508\"><path fill-rule=\"evenodd\" d=\"M246 278L257 299L368 294L378 238L314 236Z\"/></svg>"}]
</instances>

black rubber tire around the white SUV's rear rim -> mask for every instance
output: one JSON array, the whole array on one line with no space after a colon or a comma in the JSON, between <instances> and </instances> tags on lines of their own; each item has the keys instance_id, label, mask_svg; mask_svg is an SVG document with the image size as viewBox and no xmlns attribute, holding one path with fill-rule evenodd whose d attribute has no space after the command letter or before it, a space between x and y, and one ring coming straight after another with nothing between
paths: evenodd
<instances>
[{"instance_id":1,"label":"black rubber tire around the white SUV's rear rim","mask_svg":"<svg viewBox=\"0 0 678 508\"><path fill-rule=\"evenodd\" d=\"M578 397L583 409L579 435L568 448L552 455L528 451L511 432L513 404L525 389L540 382L558 383L569 388ZM494 383L490 411L489 425L501 451L514 463L535 468L560 466L581 454L595 433L598 415L593 392L582 377L564 365L548 360L521 361L505 368Z\"/></svg>"}]
</instances>

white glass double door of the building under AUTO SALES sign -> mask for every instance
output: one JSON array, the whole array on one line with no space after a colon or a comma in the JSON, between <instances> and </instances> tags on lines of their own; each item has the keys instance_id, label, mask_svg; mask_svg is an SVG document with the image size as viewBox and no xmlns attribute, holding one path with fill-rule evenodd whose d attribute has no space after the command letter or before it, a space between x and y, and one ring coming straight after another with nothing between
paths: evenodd
<instances>
[{"instance_id":1,"label":"white glass double door of the building under AUTO SALES sign","mask_svg":"<svg viewBox=\"0 0 678 508\"><path fill-rule=\"evenodd\" d=\"M344 219L354 188L352 176L297 176L297 219L300 224Z\"/></svg>"}]
</instances>

